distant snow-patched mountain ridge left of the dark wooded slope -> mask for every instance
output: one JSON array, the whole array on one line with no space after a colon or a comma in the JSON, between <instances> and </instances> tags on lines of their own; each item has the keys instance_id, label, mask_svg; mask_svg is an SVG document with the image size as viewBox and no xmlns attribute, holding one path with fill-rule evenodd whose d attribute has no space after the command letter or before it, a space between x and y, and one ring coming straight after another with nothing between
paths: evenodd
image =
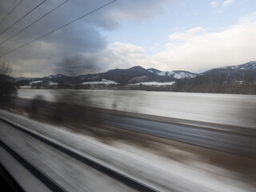
<instances>
[{"instance_id":1,"label":"distant snow-patched mountain ridge left of the dark wooded slope","mask_svg":"<svg viewBox=\"0 0 256 192\"><path fill-rule=\"evenodd\" d=\"M194 78L197 74L183 70L161 71L154 68L144 69L142 66L134 66L129 69L108 70L99 74L81 74L76 77L70 77L64 74L51 74L43 78L16 78L18 86L28 85L33 81L58 82L80 84L82 82L102 82L102 79L108 79L120 84L138 83L138 82L176 82L180 78Z\"/></svg>"}]
</instances>

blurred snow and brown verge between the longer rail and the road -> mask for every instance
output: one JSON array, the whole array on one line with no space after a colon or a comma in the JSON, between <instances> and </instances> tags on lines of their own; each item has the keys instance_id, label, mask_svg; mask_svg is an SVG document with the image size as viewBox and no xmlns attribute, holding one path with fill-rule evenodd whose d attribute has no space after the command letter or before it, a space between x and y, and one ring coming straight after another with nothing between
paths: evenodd
<instances>
[{"instance_id":1,"label":"blurred snow and brown verge between the longer rail and the road","mask_svg":"<svg viewBox=\"0 0 256 192\"><path fill-rule=\"evenodd\" d=\"M17 118L2 112L1 115L12 121ZM211 191L211 187L214 187L214 191L254 191L255 188L253 158L207 150L109 126L77 125L56 128L27 122L26 118L19 117L17 121L23 126L29 126L41 134L90 154L115 169L153 183L154 186L167 185L165 187L168 188L183 185L183 190L180 191L189 188L190 191L200 191L200 186L202 191ZM182 180L186 182L182 184Z\"/></svg>"}]
</instances>

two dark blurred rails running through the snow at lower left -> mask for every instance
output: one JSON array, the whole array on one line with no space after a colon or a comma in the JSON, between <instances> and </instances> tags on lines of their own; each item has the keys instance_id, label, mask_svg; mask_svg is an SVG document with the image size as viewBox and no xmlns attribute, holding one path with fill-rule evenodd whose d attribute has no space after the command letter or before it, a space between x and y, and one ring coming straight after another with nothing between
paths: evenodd
<instances>
[{"instance_id":1,"label":"two dark blurred rails running through the snow at lower left","mask_svg":"<svg viewBox=\"0 0 256 192\"><path fill-rule=\"evenodd\" d=\"M79 162L82 162L86 164L87 166L90 166L94 168L94 170L98 170L102 174L106 174L110 178L114 178L116 181L121 182L122 184L129 186L130 188L138 191L158 191L153 189L150 186L147 186L146 184L142 182L136 181L134 178L130 178L129 176L126 176L125 174L119 173L116 170L111 169L108 166L104 166L99 162L95 162L94 160L87 158L83 156L82 154L78 154L74 152L73 150L67 149L64 146L59 145L58 143L55 143L53 141L48 140L47 138L43 138L42 136L38 134L34 134L30 132L29 130L25 130L20 126L15 125L14 123L4 119L0 118L0 121L8 124L9 126L14 127L14 129L21 131L24 134L30 135L30 137L36 138L40 142L46 143L46 145L53 147L56 150L59 150L63 154L66 154ZM26 161L25 158L22 158L20 154L15 152L10 146L6 145L6 143L0 141L0 146L4 150L6 150L14 159L16 159L22 166L26 167L27 170L30 171L31 174L34 175L34 177L38 178L42 183L44 183L50 190L52 191L67 191L62 186L59 186L57 182L54 182L50 177L48 177L46 174L42 173L40 170L38 170L36 167L34 167L30 162Z\"/></svg>"}]
</instances>

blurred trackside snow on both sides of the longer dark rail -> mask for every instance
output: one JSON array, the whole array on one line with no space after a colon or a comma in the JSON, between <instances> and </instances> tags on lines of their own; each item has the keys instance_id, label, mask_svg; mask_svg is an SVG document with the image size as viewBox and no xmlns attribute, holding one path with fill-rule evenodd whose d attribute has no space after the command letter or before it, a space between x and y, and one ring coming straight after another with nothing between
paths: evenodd
<instances>
[{"instance_id":1,"label":"blurred trackside snow on both sides of the longer dark rail","mask_svg":"<svg viewBox=\"0 0 256 192\"><path fill-rule=\"evenodd\" d=\"M164 158L120 141L107 145L64 127L35 122L4 110L0 110L0 116L159 191L253 192L255 189L253 178L243 178L234 171L210 165L196 154L175 147L168 146L168 150L170 153L181 154L186 159L185 162ZM35 141L2 122L0 126L0 139L3 142L24 157L30 157L34 166L44 170L67 191L130 191L126 186L116 186L118 183L98 175L90 167L72 158L68 159L54 148L46 147L42 142ZM1 152L0 148L0 157ZM245 169L246 166L248 165L245 165ZM108 186L109 182L112 185ZM115 189L117 187L120 187L119 190Z\"/></svg>"}]
</instances>

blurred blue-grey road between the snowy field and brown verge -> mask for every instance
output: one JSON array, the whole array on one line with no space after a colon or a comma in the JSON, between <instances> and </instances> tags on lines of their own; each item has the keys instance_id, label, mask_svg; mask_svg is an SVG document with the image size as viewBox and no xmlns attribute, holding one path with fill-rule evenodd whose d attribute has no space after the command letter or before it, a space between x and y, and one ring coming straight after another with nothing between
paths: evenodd
<instances>
[{"instance_id":1,"label":"blurred blue-grey road between the snowy field and brown verge","mask_svg":"<svg viewBox=\"0 0 256 192\"><path fill-rule=\"evenodd\" d=\"M167 138L210 150L256 158L256 134L253 129L251 129L250 134L247 134L241 133L242 130L239 133L233 130L156 121L146 118L121 116L119 114L102 114L102 122L107 126L150 134L159 138Z\"/></svg>"}]
</instances>

